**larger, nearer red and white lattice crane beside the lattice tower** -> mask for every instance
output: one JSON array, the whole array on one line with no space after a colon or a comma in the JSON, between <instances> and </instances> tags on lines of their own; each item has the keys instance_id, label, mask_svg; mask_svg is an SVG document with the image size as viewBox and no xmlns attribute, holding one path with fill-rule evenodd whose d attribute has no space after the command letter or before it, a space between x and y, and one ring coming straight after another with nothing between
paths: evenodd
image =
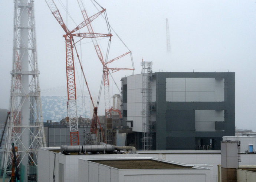
<instances>
[{"instance_id":1,"label":"larger, nearer red and white lattice crane beside the lattice tower","mask_svg":"<svg viewBox=\"0 0 256 182\"><path fill-rule=\"evenodd\" d=\"M50 11L52 12L53 16L56 18L60 26L65 31L65 38L66 42L66 78L67 78L67 90L68 90L68 116L69 116L69 128L70 128L70 143L71 145L79 145L79 133L78 133L78 117L77 117L77 109L76 109L76 83L75 83L75 66L74 66L74 56L73 56L73 47L75 47L75 43L73 37L89 37L89 38L96 38L96 37L111 37L111 34L99 34L94 32L89 33L75 33L76 31L80 30L81 28L85 27L86 25L90 24L96 17L98 17L102 11L96 13L91 17L87 17L81 24L79 24L76 28L72 31L69 31L68 27L63 22L62 16L54 3L53 0L45 0ZM76 49L76 47L75 47ZM77 50L76 50L77 52ZM78 54L77 54L78 55ZM80 59L79 59L80 62ZM81 65L81 62L80 62ZM82 66L81 66L82 69ZM85 77L85 75L83 74ZM87 85L87 82L86 82ZM88 87L88 85L87 85ZM89 91L89 88L88 88ZM92 97L91 97L92 100ZM93 104L94 106L94 104ZM96 108L96 107L95 107ZM97 108L96 108L97 110ZM95 117L95 116L94 116ZM96 116L96 123L98 117Z\"/></svg>"}]
</instances>

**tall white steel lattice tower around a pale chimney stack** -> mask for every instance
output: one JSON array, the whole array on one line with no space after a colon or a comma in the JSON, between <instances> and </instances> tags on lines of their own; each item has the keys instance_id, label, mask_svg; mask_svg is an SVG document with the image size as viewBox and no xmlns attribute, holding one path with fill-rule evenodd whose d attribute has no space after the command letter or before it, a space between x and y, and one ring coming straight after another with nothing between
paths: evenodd
<instances>
[{"instance_id":1,"label":"tall white steel lattice tower around a pale chimney stack","mask_svg":"<svg viewBox=\"0 0 256 182\"><path fill-rule=\"evenodd\" d=\"M21 179L26 182L27 176L33 175L30 169L37 167L38 148L46 147L40 101L33 0L14 0L11 75L10 117L1 169L3 169L3 178L10 176L13 159L11 143L14 143L17 147L16 155Z\"/></svg>"}]
</instances>

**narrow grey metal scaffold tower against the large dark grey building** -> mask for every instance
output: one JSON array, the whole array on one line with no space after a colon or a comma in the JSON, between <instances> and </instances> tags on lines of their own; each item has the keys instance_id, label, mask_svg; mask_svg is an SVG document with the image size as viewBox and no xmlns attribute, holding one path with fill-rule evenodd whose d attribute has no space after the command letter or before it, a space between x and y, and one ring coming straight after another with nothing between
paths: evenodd
<instances>
[{"instance_id":1,"label":"narrow grey metal scaffold tower against the large dark grey building","mask_svg":"<svg viewBox=\"0 0 256 182\"><path fill-rule=\"evenodd\" d=\"M152 150L152 62L141 62L142 65L142 147Z\"/></svg>"}]
</instances>

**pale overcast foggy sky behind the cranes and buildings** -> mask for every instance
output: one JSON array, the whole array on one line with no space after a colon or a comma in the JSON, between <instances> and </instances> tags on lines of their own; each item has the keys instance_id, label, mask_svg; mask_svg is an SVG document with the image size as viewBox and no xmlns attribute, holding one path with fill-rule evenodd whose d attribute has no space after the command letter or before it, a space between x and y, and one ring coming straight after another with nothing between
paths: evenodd
<instances>
[{"instance_id":1,"label":"pale overcast foggy sky behind the cranes and buildings","mask_svg":"<svg viewBox=\"0 0 256 182\"><path fill-rule=\"evenodd\" d=\"M69 29L75 28L61 1L56 4ZM66 0L62 0L66 6ZM86 2L89 16L97 12L91 1ZM109 23L132 51L135 74L141 72L140 62L153 62L153 71L229 71L236 72L236 126L256 131L256 2L255 0L98 0L107 10ZM69 0L68 10L76 24L82 15L76 0ZM13 46L13 1L0 1L0 108L8 109L10 71ZM66 84L64 31L50 13L44 0L35 0L37 53L40 87L47 89ZM166 52L165 19L170 27L171 54ZM107 33L102 17L92 23L95 32ZM81 32L88 32L86 29ZM114 32L112 32L114 34ZM91 40L82 40L83 67L93 95L98 95L102 75ZM88 43L86 43L88 42ZM108 39L99 41L106 52ZM80 45L78 46L80 48ZM115 34L109 58L127 52ZM112 67L112 66L110 66ZM113 67L131 68L128 57ZM76 83L79 86L81 73ZM119 88L120 79L131 71L114 73ZM79 76L80 75L80 76ZM111 95L118 93L112 86ZM103 96L102 96L103 97ZM101 101L104 113L104 101Z\"/></svg>"}]
</instances>

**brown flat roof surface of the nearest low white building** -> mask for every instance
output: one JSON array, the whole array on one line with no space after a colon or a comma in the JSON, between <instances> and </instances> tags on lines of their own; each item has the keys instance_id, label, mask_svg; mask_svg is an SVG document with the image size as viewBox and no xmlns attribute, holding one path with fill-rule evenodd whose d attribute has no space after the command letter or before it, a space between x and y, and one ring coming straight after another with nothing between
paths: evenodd
<instances>
[{"instance_id":1,"label":"brown flat roof surface of the nearest low white building","mask_svg":"<svg viewBox=\"0 0 256 182\"><path fill-rule=\"evenodd\" d=\"M192 169L192 166L181 166L152 159L119 159L119 160L88 160L116 169Z\"/></svg>"}]
</instances>

